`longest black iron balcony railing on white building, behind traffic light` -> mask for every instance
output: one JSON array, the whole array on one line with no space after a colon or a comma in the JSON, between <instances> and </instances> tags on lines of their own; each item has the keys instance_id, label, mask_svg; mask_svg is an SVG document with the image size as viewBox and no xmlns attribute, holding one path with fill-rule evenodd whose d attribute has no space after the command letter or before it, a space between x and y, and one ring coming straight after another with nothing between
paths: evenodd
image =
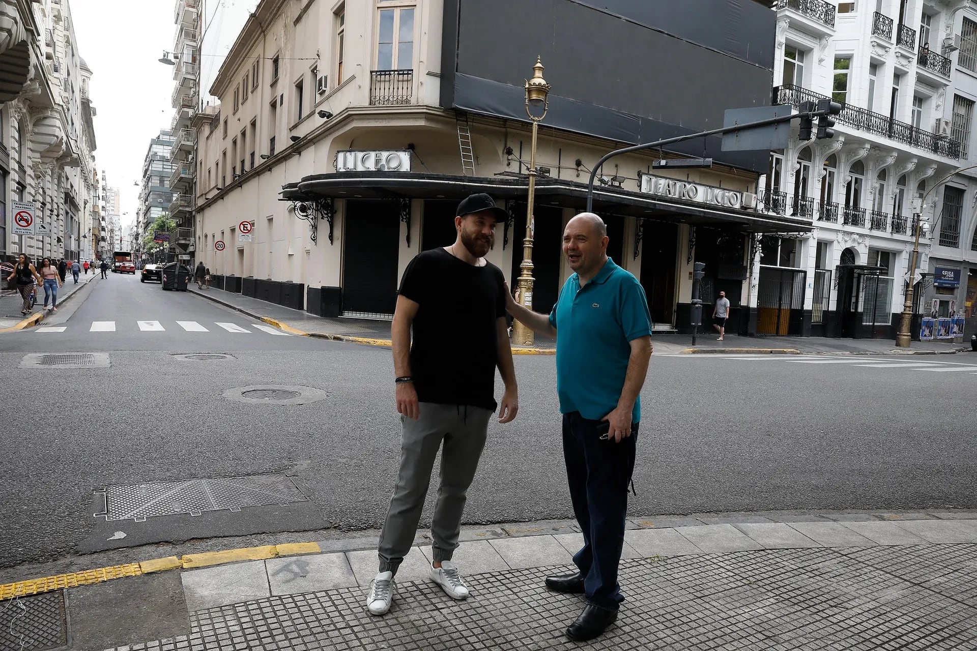
<instances>
[{"instance_id":1,"label":"longest black iron balcony railing on white building, behind traffic light","mask_svg":"<svg viewBox=\"0 0 977 651\"><path fill-rule=\"evenodd\" d=\"M824 95L818 95L800 86L778 86L774 89L775 104L791 104L799 106L800 102L828 100ZM873 113L867 108L843 104L841 112L834 118L837 122L878 136L885 136L894 141L914 144L922 149L948 158L960 157L960 143L945 136L923 131L907 122L893 120L881 113Z\"/></svg>"}]
</instances>

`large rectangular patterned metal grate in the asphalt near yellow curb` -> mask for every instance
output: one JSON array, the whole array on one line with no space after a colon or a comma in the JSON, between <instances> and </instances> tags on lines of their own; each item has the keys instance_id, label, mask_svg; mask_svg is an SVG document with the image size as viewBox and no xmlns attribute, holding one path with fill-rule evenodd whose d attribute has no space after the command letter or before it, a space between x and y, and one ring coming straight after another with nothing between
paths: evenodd
<instances>
[{"instance_id":1,"label":"large rectangular patterned metal grate in the asphalt near yellow curb","mask_svg":"<svg viewBox=\"0 0 977 651\"><path fill-rule=\"evenodd\" d=\"M199 515L208 510L237 510L308 500L283 474L120 484L106 487L104 496L106 510L95 513L97 517L137 522L163 515Z\"/></svg>"}]
</instances>

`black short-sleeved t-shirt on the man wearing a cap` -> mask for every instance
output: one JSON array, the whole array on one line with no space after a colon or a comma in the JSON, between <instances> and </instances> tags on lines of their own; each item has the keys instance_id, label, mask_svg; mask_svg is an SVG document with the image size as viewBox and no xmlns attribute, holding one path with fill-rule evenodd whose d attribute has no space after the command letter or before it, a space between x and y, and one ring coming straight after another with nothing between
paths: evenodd
<instances>
[{"instance_id":1,"label":"black short-sleeved t-shirt on the man wearing a cap","mask_svg":"<svg viewBox=\"0 0 977 651\"><path fill-rule=\"evenodd\" d=\"M439 247L407 264L400 294L420 305L410 346L417 399L494 410L502 270L468 264Z\"/></svg>"}]
</instances>

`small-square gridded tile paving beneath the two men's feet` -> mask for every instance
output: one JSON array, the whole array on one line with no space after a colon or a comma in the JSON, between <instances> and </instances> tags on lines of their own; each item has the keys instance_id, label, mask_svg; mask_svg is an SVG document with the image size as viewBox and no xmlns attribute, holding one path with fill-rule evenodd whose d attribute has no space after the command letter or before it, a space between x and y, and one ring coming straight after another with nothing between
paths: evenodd
<instances>
[{"instance_id":1,"label":"small-square gridded tile paving beneath the two men's feet","mask_svg":"<svg viewBox=\"0 0 977 651\"><path fill-rule=\"evenodd\" d=\"M382 618L365 612L361 588L273 596L191 613L190 637L168 642L178 651L973 651L977 608L900 576L920 557L937 576L956 567L974 577L974 546L934 547L884 548L899 559L884 570L836 549L626 560L620 566L626 600L616 625L582 645L564 637L582 597L543 586L562 568L469 577L472 596L464 601L430 583L400 584ZM160 649L163 642L131 648Z\"/></svg>"}]
</instances>

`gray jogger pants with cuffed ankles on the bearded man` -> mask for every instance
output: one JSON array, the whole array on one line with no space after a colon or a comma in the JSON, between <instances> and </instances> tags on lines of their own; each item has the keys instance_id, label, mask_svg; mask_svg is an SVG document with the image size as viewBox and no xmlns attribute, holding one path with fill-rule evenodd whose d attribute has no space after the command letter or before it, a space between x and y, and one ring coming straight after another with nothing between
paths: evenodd
<instances>
[{"instance_id":1,"label":"gray jogger pants with cuffed ankles on the bearded man","mask_svg":"<svg viewBox=\"0 0 977 651\"><path fill-rule=\"evenodd\" d=\"M401 417L401 470L390 510L380 534L380 571L397 574L417 533L424 498L431 483L431 470L438 449L441 456L441 486L431 523L433 554L438 561L450 560L458 547L465 493L475 478L488 434L492 412L483 407L422 402L416 421Z\"/></svg>"}]
</instances>

